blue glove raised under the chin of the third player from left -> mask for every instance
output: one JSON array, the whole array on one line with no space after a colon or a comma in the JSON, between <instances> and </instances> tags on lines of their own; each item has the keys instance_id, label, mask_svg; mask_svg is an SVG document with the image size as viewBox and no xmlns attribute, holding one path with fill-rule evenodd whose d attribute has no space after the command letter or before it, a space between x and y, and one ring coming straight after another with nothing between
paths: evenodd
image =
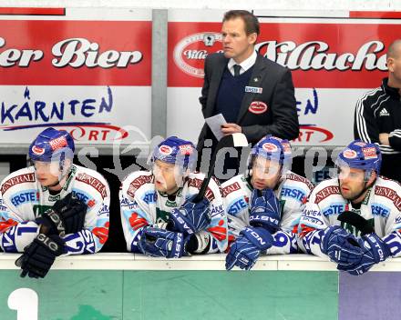
<instances>
[{"instance_id":1,"label":"blue glove raised under the chin of the third player from left","mask_svg":"<svg viewBox=\"0 0 401 320\"><path fill-rule=\"evenodd\" d=\"M281 205L271 189L253 189L250 225L261 226L274 234L280 225Z\"/></svg>"}]
</instances>

